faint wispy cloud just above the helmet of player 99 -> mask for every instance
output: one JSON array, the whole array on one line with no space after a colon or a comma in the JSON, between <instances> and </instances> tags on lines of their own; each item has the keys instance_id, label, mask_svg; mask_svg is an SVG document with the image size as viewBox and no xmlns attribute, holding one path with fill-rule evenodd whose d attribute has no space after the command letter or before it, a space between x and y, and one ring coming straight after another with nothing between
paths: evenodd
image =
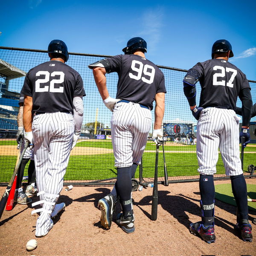
<instances>
[{"instance_id":1,"label":"faint wispy cloud just above the helmet of player 99","mask_svg":"<svg viewBox=\"0 0 256 256\"><path fill-rule=\"evenodd\" d=\"M157 50L157 44L161 37L161 28L163 27L162 19L162 8L149 10L143 14L143 30L140 31L138 35L147 38L147 41L150 42L151 52Z\"/></svg>"}]
</instances>

